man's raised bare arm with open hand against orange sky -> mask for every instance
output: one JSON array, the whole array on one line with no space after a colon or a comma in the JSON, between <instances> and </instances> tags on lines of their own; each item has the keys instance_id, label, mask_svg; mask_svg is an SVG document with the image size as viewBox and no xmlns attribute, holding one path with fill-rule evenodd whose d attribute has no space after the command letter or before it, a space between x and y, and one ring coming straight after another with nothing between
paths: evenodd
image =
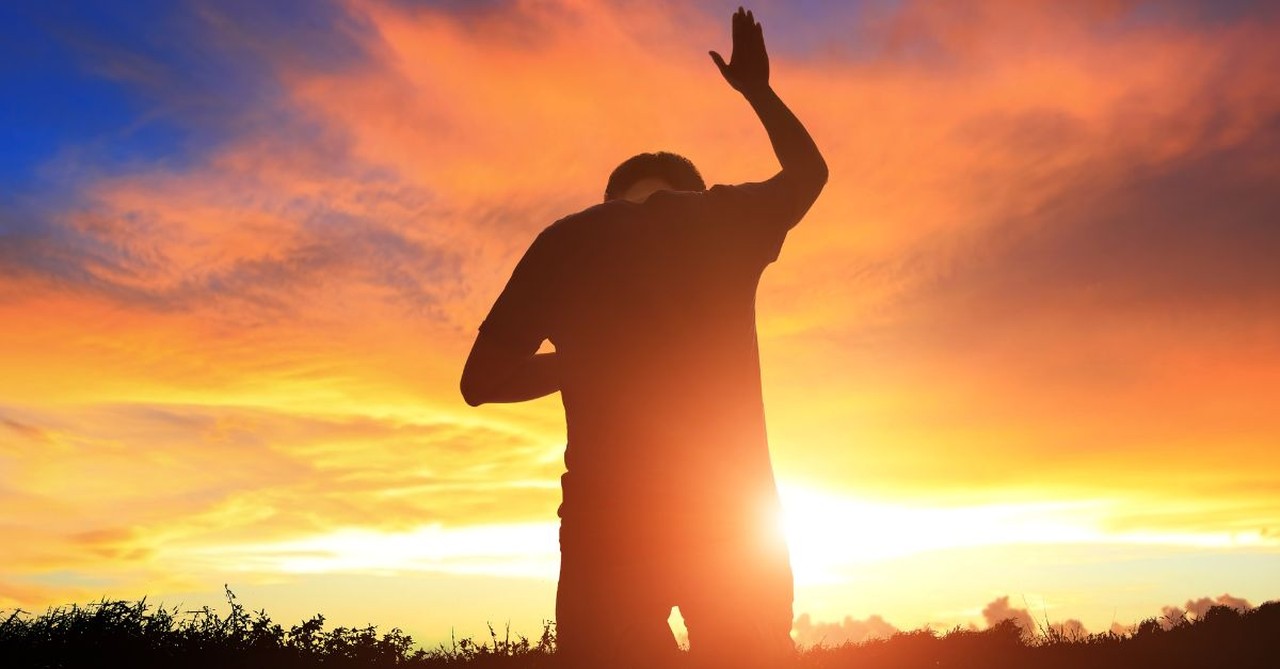
<instances>
[{"instance_id":1,"label":"man's raised bare arm with open hand against orange sky","mask_svg":"<svg viewBox=\"0 0 1280 669\"><path fill-rule=\"evenodd\" d=\"M809 209L827 183L827 162L822 159L818 145L809 137L809 130L769 87L769 55L764 50L764 31L755 17L739 8L733 14L733 52L730 61L724 63L716 51L710 55L724 81L746 97L764 124L773 152L782 165L782 171L774 179L791 182L797 196L804 200L804 209Z\"/></svg>"}]
</instances>

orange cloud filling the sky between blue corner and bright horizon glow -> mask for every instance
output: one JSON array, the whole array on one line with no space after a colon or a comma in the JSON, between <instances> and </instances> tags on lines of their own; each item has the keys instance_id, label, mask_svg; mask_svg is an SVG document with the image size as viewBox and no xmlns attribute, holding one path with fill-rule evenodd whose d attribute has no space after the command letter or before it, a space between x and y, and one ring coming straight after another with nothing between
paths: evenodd
<instances>
[{"instance_id":1,"label":"orange cloud filling the sky between blue corner and bright horizon glow","mask_svg":"<svg viewBox=\"0 0 1280 669\"><path fill-rule=\"evenodd\" d=\"M339 63L207 10L274 95L0 244L12 569L189 585L161 546L553 519L554 400L456 393L516 257L634 152L776 169L705 56L718 14L343 10ZM781 477L1274 536L1275 17L908 3L788 37L760 14L832 173L762 285Z\"/></svg>"}]
</instances>

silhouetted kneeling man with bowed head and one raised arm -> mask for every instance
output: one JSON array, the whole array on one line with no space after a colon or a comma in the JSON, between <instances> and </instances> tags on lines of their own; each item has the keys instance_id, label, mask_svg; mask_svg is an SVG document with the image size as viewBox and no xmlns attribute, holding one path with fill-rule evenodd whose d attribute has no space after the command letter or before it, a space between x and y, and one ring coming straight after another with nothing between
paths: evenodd
<instances>
[{"instance_id":1,"label":"silhouetted kneeling man with bowed head and one raised arm","mask_svg":"<svg viewBox=\"0 0 1280 669\"><path fill-rule=\"evenodd\" d=\"M577 666L657 665L680 606L694 657L782 664L792 578L778 526L755 342L755 289L827 182L809 133L769 87L760 26L733 15L724 79L782 170L707 189L673 153L614 170L602 205L534 239L480 326L468 404L557 390L558 654ZM536 353L549 339L554 353Z\"/></svg>"}]
</instances>

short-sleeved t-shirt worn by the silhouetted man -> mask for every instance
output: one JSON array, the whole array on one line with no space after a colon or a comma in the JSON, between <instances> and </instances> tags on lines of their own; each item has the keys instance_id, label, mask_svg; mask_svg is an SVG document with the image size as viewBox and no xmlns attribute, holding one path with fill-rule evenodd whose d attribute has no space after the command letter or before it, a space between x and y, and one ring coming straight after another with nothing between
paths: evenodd
<instances>
[{"instance_id":1,"label":"short-sleeved t-shirt worn by the silhouetted man","mask_svg":"<svg viewBox=\"0 0 1280 669\"><path fill-rule=\"evenodd\" d=\"M564 531L640 549L776 514L755 290L808 206L783 175L659 191L567 216L530 246L481 331L556 347Z\"/></svg>"}]
</instances>

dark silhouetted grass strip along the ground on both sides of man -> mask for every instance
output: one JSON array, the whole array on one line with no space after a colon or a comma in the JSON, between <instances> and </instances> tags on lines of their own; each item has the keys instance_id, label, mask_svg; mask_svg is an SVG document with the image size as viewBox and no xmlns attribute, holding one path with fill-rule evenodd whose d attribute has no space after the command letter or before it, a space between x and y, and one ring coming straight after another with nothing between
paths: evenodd
<instances>
[{"instance_id":1,"label":"dark silhouetted grass strip along the ground on both sides of man","mask_svg":"<svg viewBox=\"0 0 1280 669\"><path fill-rule=\"evenodd\" d=\"M547 626L541 638L498 634L465 638L434 650L392 629L378 634L364 628L324 628L324 617L284 628L264 610L250 613L228 590L225 617L204 608L177 608L102 600L87 606L60 606L41 615L0 615L0 665L6 668L129 666L270 666L383 668L554 666L556 634ZM1169 627L1165 629L1165 627ZM1240 613L1216 606L1199 620L1161 626L1149 619L1133 634L1069 637L1053 629L1029 640L1005 620L991 629L955 629L945 634L915 631L887 640L817 647L800 652L800 669L915 668L1276 668L1280 666L1280 601Z\"/></svg>"}]
</instances>

